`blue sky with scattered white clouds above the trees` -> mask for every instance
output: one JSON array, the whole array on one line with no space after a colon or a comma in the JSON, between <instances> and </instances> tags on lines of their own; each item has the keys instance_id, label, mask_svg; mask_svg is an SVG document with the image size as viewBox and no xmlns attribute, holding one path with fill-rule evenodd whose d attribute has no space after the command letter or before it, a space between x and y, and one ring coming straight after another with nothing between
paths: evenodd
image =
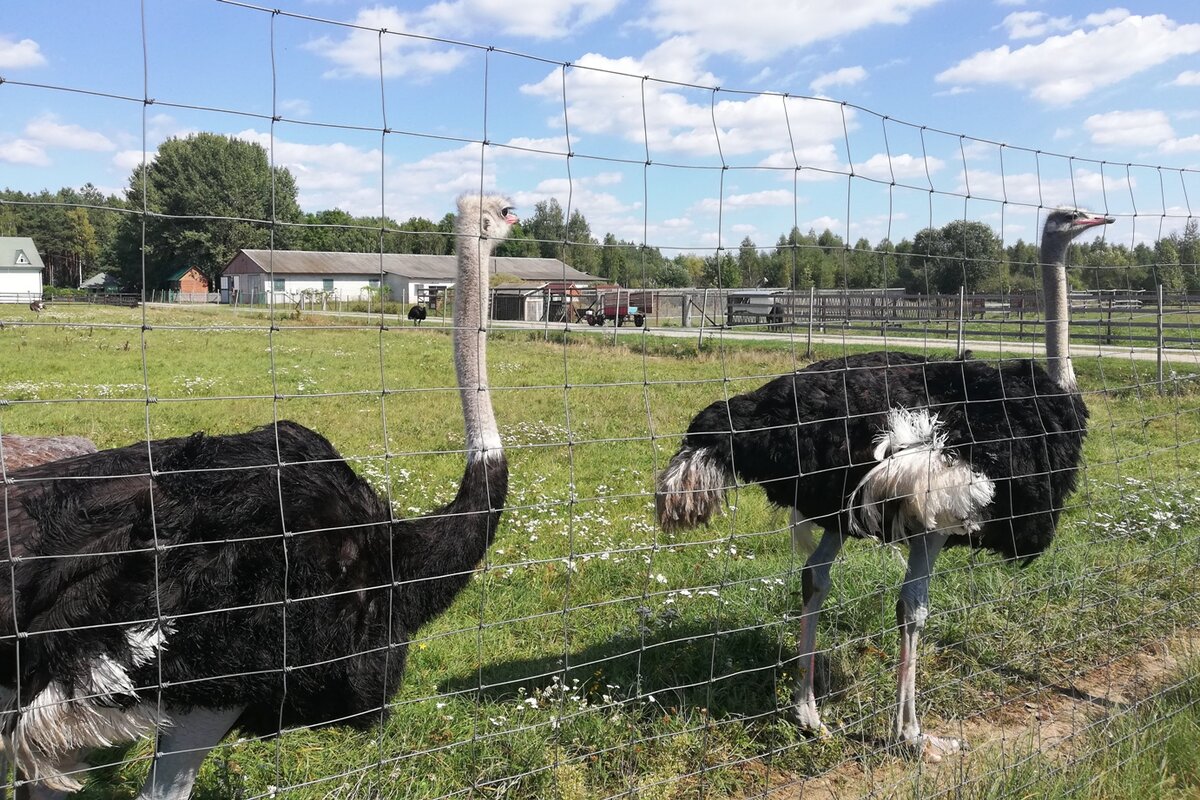
<instances>
[{"instance_id":1,"label":"blue sky with scattered white clouds above the trees","mask_svg":"<svg viewBox=\"0 0 1200 800\"><path fill-rule=\"evenodd\" d=\"M271 13L270 10L280 13ZM121 192L169 137L258 142L305 211L556 198L596 237L1133 246L1200 216L1200 2L5 0L0 186Z\"/></svg>"}]
</instances>

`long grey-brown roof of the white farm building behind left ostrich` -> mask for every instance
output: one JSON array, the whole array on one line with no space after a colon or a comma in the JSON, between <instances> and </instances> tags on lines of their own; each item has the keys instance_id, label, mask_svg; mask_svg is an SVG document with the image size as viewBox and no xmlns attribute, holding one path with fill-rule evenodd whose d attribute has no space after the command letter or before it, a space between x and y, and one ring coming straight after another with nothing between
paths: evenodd
<instances>
[{"instance_id":1,"label":"long grey-brown roof of the white farm building behind left ostrich","mask_svg":"<svg viewBox=\"0 0 1200 800\"><path fill-rule=\"evenodd\" d=\"M245 257L245 258L242 258ZM389 275L416 281L454 282L458 261L454 255L413 253L328 253L313 251L242 249L226 266L224 275L275 272L276 275ZM523 281L600 281L557 258L492 258L492 271L515 275Z\"/></svg>"}]
</instances>

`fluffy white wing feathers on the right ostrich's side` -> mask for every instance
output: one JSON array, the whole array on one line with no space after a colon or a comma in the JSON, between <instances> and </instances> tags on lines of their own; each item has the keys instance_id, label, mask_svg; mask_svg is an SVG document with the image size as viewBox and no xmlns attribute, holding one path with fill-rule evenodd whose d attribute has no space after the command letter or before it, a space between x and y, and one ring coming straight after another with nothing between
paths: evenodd
<instances>
[{"instance_id":1,"label":"fluffy white wing feathers on the right ostrich's side","mask_svg":"<svg viewBox=\"0 0 1200 800\"><path fill-rule=\"evenodd\" d=\"M918 530L978 530L996 485L946 451L937 414L892 409L876 443L880 463L850 495L851 530L892 541ZM890 531L883 530L884 504L894 509Z\"/></svg>"}]
</instances>

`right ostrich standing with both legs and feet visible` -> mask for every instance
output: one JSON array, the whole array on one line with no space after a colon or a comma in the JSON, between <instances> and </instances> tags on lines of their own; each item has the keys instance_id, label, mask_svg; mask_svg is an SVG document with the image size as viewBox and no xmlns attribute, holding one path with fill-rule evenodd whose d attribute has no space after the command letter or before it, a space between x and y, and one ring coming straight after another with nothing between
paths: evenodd
<instances>
[{"instance_id":1,"label":"right ostrich standing with both legs and feet visible","mask_svg":"<svg viewBox=\"0 0 1200 800\"><path fill-rule=\"evenodd\" d=\"M734 481L761 483L774 505L792 510L798 547L814 525L824 529L802 573L792 709L800 727L828 735L812 688L817 615L845 537L870 536L908 545L894 735L934 762L962 746L923 733L917 718L917 640L934 560L946 545L970 545L1028 561L1054 537L1087 420L1068 353L1067 247L1110 222L1074 209L1046 217L1046 368L869 353L812 363L691 421L659 476L665 529L707 523Z\"/></svg>"}]
</instances>

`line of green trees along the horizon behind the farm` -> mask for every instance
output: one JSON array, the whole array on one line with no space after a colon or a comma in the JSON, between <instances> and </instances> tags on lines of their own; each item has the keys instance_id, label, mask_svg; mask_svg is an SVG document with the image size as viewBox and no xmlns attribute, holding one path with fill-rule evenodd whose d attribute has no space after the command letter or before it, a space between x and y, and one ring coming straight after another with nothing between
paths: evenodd
<instances>
[{"instance_id":1,"label":"line of green trees along the horizon behind the farm","mask_svg":"<svg viewBox=\"0 0 1200 800\"><path fill-rule=\"evenodd\" d=\"M79 190L0 191L0 235L31 236L50 285L73 287L108 272L131 290L158 288L182 266L210 283L240 248L356 253L454 252L454 217L353 216L340 209L305 212L295 178L271 167L262 145L196 133L164 142L125 197L88 184ZM145 210L146 213L142 213ZM275 224L264 221L275 221ZM958 219L899 242L850 243L829 229L780 234L774 246L749 236L737 248L665 257L656 247L598 239L578 210L538 203L498 255L560 258L606 281L634 288L785 287L792 289L904 287L913 293L1036 289L1033 242L1003 245L985 223ZM1134 247L1096 240L1073 245L1079 288L1200 293L1200 223ZM144 276L144 279L143 279Z\"/></svg>"}]
</instances>

